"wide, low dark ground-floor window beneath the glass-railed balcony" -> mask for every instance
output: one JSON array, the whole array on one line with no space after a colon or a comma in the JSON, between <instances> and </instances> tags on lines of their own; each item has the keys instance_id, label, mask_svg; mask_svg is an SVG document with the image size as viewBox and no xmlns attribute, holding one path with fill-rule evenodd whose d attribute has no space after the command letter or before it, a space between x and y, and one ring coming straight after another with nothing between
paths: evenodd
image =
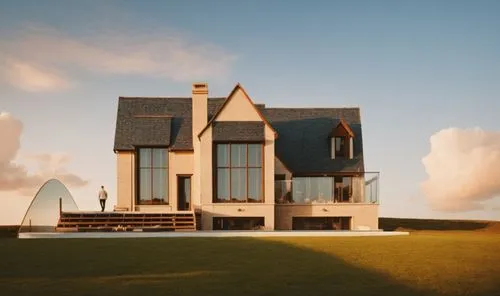
<instances>
[{"instance_id":1,"label":"wide, low dark ground-floor window beneath the glass-railed balcony","mask_svg":"<svg viewBox=\"0 0 500 296\"><path fill-rule=\"evenodd\" d=\"M351 230L351 217L293 217L293 230Z\"/></svg>"}]
</instances>

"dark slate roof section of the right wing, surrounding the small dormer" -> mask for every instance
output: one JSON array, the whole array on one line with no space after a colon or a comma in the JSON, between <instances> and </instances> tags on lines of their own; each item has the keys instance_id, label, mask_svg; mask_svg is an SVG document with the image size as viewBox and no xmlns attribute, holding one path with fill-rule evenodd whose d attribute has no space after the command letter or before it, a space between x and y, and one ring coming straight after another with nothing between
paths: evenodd
<instances>
[{"instance_id":1,"label":"dark slate roof section of the right wing, surrounding the small dormer","mask_svg":"<svg viewBox=\"0 0 500 296\"><path fill-rule=\"evenodd\" d=\"M364 171L359 108L265 108L278 133L275 154L294 174ZM340 119L354 132L353 159L331 159L329 134Z\"/></svg>"}]
</instances>

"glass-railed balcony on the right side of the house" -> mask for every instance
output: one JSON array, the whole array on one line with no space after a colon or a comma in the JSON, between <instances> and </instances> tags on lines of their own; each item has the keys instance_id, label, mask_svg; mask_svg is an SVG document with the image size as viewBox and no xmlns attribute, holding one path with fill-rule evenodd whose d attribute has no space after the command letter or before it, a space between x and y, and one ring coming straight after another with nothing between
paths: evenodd
<instances>
[{"instance_id":1,"label":"glass-railed balcony on the right side of the house","mask_svg":"<svg viewBox=\"0 0 500 296\"><path fill-rule=\"evenodd\" d=\"M379 173L275 181L277 204L378 204Z\"/></svg>"}]
</instances>

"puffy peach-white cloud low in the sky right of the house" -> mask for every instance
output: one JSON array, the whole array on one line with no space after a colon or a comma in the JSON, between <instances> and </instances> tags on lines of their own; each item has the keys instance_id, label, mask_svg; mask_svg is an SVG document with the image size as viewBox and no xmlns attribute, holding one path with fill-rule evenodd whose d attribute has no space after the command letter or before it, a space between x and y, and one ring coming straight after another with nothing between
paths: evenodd
<instances>
[{"instance_id":1,"label":"puffy peach-white cloud low in the sky right of the house","mask_svg":"<svg viewBox=\"0 0 500 296\"><path fill-rule=\"evenodd\" d=\"M485 201L500 196L500 132L443 129L430 144L422 159L428 179L421 188L433 209L481 210Z\"/></svg>"}]
</instances>

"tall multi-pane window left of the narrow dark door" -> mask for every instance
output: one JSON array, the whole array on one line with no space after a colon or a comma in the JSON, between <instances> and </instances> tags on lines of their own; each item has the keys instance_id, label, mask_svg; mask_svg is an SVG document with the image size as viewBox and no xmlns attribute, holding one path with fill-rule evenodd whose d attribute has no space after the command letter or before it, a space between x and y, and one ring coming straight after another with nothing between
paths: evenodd
<instances>
[{"instance_id":1,"label":"tall multi-pane window left of the narrow dark door","mask_svg":"<svg viewBox=\"0 0 500 296\"><path fill-rule=\"evenodd\" d=\"M168 204L168 151L165 148L138 150L139 205Z\"/></svg>"}]
</instances>

